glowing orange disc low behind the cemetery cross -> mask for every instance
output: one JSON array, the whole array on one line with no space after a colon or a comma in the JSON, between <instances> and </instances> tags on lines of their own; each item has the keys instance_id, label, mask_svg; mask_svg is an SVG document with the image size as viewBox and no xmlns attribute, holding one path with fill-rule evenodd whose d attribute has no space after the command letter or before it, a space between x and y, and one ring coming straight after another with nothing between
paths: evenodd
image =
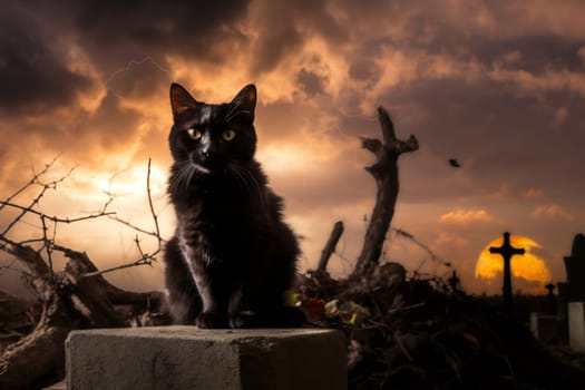
<instances>
[{"instance_id":1,"label":"glowing orange disc low behind the cemetery cross","mask_svg":"<svg viewBox=\"0 0 585 390\"><path fill-rule=\"evenodd\" d=\"M489 253L490 246L499 247L503 243L503 237L496 238L481 251L476 264L476 279L481 279L487 282L487 284L499 284L503 282L504 259L499 254ZM520 284L523 292L542 293L544 285L550 282L550 272L546 266L546 262L532 253L533 248L542 247L540 244L521 235L511 235L510 244L517 248L524 247L526 251L524 255L514 255L511 257L513 289L516 291L518 284ZM515 283L514 280L525 283Z\"/></svg>"}]
</instances>

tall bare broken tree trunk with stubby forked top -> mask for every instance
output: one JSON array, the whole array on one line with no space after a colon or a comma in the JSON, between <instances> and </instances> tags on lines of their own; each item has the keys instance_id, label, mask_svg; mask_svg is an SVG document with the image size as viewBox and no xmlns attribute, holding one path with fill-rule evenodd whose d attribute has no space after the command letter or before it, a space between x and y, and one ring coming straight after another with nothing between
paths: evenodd
<instances>
[{"instance_id":1,"label":"tall bare broken tree trunk with stubby forked top","mask_svg":"<svg viewBox=\"0 0 585 390\"><path fill-rule=\"evenodd\" d=\"M378 108L378 117L382 129L382 140L361 138L362 147L376 156L376 163L365 167L365 170L376 179L378 192L363 247L351 274L352 279L371 274L378 265L398 197L398 157L402 153L413 152L419 147L413 135L410 135L407 140L397 139L392 120L383 107Z\"/></svg>"}]
</instances>

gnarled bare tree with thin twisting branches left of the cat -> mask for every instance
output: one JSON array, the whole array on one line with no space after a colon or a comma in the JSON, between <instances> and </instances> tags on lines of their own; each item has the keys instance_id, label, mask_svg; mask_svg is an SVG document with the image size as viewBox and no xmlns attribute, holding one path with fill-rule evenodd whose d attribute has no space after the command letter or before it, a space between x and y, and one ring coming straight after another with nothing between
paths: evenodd
<instances>
[{"instance_id":1,"label":"gnarled bare tree with thin twisting branches left of the cat","mask_svg":"<svg viewBox=\"0 0 585 390\"><path fill-rule=\"evenodd\" d=\"M29 389L39 388L62 378L65 367L65 339L71 330L87 328L127 326L127 319L116 311L116 304L156 308L163 302L159 292L135 293L118 289L108 283L103 273L121 267L152 264L160 251L162 238L158 231L157 216L153 208L149 192L150 163L148 163L147 189L148 203L153 214L155 228L148 232L131 223L118 218L116 213L107 207L113 196L100 212L76 218L62 218L47 215L37 208L39 201L49 189L67 176L58 181L43 183L43 175L51 167L48 164L43 170L33 175L23 187L0 202L0 211L11 208L17 216L0 232L0 250L23 265L21 271L26 283L35 293L42 306L42 313L35 330L16 343L0 351L0 388ZM23 192L39 186L40 191L27 205L18 204L14 198ZM22 222L26 216L36 216L40 222L40 236L17 242L10 237L12 227ZM135 231L148 234L158 243L150 254L145 253L136 238L139 259L120 266L98 271L85 252L78 252L57 244L57 226L90 218L113 218ZM61 252L67 257L65 270L53 270L52 254Z\"/></svg>"}]
</instances>

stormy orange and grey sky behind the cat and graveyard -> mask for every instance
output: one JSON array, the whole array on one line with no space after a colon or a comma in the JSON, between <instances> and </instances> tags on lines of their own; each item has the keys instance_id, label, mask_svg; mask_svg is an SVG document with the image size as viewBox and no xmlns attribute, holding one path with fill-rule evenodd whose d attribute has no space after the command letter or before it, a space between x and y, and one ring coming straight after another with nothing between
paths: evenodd
<instances>
[{"instance_id":1,"label":"stormy orange and grey sky behind the cat and graveyard","mask_svg":"<svg viewBox=\"0 0 585 390\"><path fill-rule=\"evenodd\" d=\"M338 220L345 233L330 269L351 270L376 193L359 137L380 136L381 105L399 137L413 134L421 146L399 160L392 227L438 259L390 232L386 260L439 276L449 262L469 292L498 292L499 280L474 272L481 250L510 231L538 243L550 280L564 281L563 256L585 231L583 14L582 1L544 0L3 1L0 197L59 156L55 177L75 169L43 197L45 213L91 213L109 192L111 209L152 230L152 158L169 237L169 84L221 103L255 82L257 158L303 237L301 270L314 266ZM4 209L0 223L12 216ZM11 234L38 227L29 221ZM57 241L107 267L136 256L134 236L95 220L60 226ZM155 264L109 277L156 289L162 272ZM0 280L12 285L18 274Z\"/></svg>"}]
</instances>

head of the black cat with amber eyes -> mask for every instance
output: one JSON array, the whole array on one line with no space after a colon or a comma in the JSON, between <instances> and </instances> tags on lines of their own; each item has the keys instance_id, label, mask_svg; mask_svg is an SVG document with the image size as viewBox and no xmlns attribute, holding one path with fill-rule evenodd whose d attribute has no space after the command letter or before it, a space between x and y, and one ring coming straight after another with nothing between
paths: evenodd
<instances>
[{"instance_id":1,"label":"head of the black cat with amber eyes","mask_svg":"<svg viewBox=\"0 0 585 390\"><path fill-rule=\"evenodd\" d=\"M256 88L247 85L231 103L195 100L178 84L170 85L174 125L168 136L176 164L201 175L221 175L253 159L256 149Z\"/></svg>"}]
</instances>

